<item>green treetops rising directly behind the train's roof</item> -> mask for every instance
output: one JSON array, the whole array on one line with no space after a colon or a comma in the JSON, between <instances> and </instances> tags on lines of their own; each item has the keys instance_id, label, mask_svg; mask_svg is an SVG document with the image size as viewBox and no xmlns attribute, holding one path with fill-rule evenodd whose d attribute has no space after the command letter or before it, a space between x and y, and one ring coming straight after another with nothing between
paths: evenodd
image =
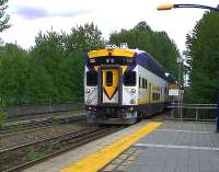
<instances>
[{"instance_id":1,"label":"green treetops rising directly behind the train's roof","mask_svg":"<svg viewBox=\"0 0 219 172\"><path fill-rule=\"evenodd\" d=\"M175 44L165 32L154 32L146 22L140 22L128 31L114 32L111 34L110 43L127 43L130 48L146 50L163 65L168 72L177 73L175 64L178 51Z\"/></svg>"}]
</instances>

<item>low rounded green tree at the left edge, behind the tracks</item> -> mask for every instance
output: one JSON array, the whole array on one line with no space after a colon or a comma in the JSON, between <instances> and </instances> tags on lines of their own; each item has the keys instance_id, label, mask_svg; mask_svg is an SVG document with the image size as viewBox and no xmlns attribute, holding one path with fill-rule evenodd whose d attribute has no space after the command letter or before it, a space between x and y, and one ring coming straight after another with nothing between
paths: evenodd
<instances>
[{"instance_id":1,"label":"low rounded green tree at the left edge, behind the tracks","mask_svg":"<svg viewBox=\"0 0 219 172\"><path fill-rule=\"evenodd\" d=\"M8 104L19 103L25 93L27 53L15 44L7 44L0 51L0 98Z\"/></svg>"}]
</instances>

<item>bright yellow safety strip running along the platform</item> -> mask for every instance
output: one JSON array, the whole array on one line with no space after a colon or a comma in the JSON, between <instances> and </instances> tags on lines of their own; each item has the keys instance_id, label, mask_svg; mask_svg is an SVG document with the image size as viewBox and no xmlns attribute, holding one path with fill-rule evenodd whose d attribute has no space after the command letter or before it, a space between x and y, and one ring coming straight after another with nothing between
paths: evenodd
<instances>
[{"instance_id":1,"label":"bright yellow safety strip running along the platform","mask_svg":"<svg viewBox=\"0 0 219 172\"><path fill-rule=\"evenodd\" d=\"M118 154L120 154L124 150L129 148L143 136L150 134L160 125L161 123L149 123L148 125L132 131L122 139L116 140L110 146L91 153L87 158L83 158L76 163L70 164L60 172L96 172Z\"/></svg>"}]
</instances>

